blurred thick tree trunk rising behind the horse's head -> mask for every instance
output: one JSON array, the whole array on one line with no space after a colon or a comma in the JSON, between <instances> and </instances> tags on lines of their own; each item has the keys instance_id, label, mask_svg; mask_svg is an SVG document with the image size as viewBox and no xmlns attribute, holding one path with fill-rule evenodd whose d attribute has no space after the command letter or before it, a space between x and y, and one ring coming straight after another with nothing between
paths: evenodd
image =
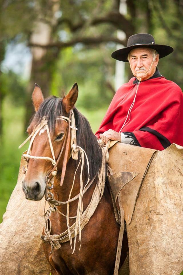
<instances>
[{"instance_id":1,"label":"blurred thick tree trunk rising behind the horse's head","mask_svg":"<svg viewBox=\"0 0 183 275\"><path fill-rule=\"evenodd\" d=\"M57 23L55 12L59 9L57 1L49 1L47 7L51 10L51 16L47 21L43 21L45 15L40 14L39 19L35 22L35 28L29 39L29 43L49 44L53 42L53 29ZM37 2L37 9L41 13L41 8ZM37 83L42 91L44 97L50 95L50 84L52 69L57 60L58 49L43 49L40 47L32 47L32 64L31 64L31 76L29 85L27 87L27 102L26 102L26 114L25 114L25 127L28 126L29 120L33 115L33 105L31 101L31 94L34 89L34 84Z\"/></svg>"}]
</instances>

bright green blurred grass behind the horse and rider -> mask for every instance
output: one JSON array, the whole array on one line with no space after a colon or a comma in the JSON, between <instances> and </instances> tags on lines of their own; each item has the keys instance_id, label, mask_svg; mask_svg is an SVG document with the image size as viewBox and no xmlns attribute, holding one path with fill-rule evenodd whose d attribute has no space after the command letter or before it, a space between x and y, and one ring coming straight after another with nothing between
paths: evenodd
<instances>
[{"instance_id":1,"label":"bright green blurred grass behind the horse and rider","mask_svg":"<svg viewBox=\"0 0 183 275\"><path fill-rule=\"evenodd\" d=\"M87 111L84 108L79 111L87 117L92 130L96 132L105 109ZM25 140L23 129L24 108L15 107L7 98L3 104L3 135L0 143L0 223L6 211L9 197L16 185L21 154L28 148L28 143L21 149L18 146Z\"/></svg>"}]
</instances>

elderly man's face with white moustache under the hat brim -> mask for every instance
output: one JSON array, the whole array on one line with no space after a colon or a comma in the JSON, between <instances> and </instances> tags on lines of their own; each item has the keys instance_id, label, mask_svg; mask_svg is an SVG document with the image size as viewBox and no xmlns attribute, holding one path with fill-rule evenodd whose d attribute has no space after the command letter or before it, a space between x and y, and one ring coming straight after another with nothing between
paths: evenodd
<instances>
[{"instance_id":1,"label":"elderly man's face with white moustache under the hat brim","mask_svg":"<svg viewBox=\"0 0 183 275\"><path fill-rule=\"evenodd\" d=\"M130 51L129 61L134 76L138 79L142 78L142 80L146 80L154 74L156 66L158 65L159 56L156 55L155 60L153 61L153 55L154 53L152 50L148 48L136 48Z\"/></svg>"}]
</instances>

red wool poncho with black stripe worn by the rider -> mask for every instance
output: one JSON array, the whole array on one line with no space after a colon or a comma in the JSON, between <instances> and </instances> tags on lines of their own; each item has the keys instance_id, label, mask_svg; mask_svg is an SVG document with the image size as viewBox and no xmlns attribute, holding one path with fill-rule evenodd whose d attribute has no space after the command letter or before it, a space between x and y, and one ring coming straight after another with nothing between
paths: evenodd
<instances>
[{"instance_id":1,"label":"red wool poncho with black stripe worn by the rider","mask_svg":"<svg viewBox=\"0 0 183 275\"><path fill-rule=\"evenodd\" d=\"M107 110L96 136L108 129L119 132L134 100L135 78L122 85ZM163 150L172 143L183 146L183 94L163 76L142 81L131 119L122 132L132 132L140 146Z\"/></svg>"}]
</instances>

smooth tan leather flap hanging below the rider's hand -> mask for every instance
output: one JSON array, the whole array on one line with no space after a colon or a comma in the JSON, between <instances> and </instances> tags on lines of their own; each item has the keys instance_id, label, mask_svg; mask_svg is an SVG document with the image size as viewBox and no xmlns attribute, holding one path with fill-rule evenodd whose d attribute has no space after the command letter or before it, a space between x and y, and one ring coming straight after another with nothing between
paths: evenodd
<instances>
[{"instance_id":1,"label":"smooth tan leather flap hanging below the rider's hand","mask_svg":"<svg viewBox=\"0 0 183 275\"><path fill-rule=\"evenodd\" d=\"M111 170L108 180L116 202L120 194L127 224L132 221L138 192L155 152L119 142L109 149L108 164Z\"/></svg>"}]
</instances>

